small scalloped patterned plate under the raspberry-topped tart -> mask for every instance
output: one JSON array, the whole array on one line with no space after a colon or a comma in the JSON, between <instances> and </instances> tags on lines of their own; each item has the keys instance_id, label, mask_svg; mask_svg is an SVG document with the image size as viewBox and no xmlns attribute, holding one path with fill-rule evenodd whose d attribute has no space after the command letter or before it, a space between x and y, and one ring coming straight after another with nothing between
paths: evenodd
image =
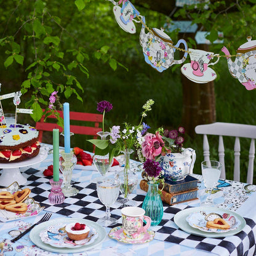
<instances>
[{"instance_id":1,"label":"small scalloped patterned plate under the raspberry-topped tart","mask_svg":"<svg viewBox=\"0 0 256 256\"><path fill-rule=\"evenodd\" d=\"M85 244L92 244L95 239L98 237L98 233L94 228L90 228L89 234L86 239L82 240L71 240L68 238L65 230L66 224L58 223L56 225L48 226L45 230L39 233L41 241L50 244L50 246L63 248L73 248L73 247L81 247Z\"/></svg>"}]
</instances>

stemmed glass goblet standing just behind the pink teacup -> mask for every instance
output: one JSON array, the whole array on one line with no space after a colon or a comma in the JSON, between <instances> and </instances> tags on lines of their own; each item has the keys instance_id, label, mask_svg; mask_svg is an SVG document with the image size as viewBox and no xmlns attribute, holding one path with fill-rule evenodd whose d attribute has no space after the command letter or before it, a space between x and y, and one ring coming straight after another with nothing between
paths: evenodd
<instances>
[{"instance_id":1,"label":"stemmed glass goblet standing just behind the pink teacup","mask_svg":"<svg viewBox=\"0 0 256 256\"><path fill-rule=\"evenodd\" d=\"M97 221L102 226L111 226L118 223L118 220L110 215L110 206L118 198L120 185L119 180L115 178L100 177L97 180L98 199L106 206L105 217L99 218Z\"/></svg>"}]
</instances>

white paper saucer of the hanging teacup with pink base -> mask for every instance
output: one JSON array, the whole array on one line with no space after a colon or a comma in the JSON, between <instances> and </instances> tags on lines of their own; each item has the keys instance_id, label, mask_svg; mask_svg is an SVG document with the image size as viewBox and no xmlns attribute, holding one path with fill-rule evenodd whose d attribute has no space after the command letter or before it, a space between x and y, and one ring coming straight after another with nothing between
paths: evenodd
<instances>
[{"instance_id":1,"label":"white paper saucer of the hanging teacup with pink base","mask_svg":"<svg viewBox=\"0 0 256 256\"><path fill-rule=\"evenodd\" d=\"M212 68L207 68L207 70L204 72L203 76L196 76L193 74L193 68L191 68L190 63L184 64L180 70L182 71L182 74L186 76L186 78L190 79L193 82L197 82L198 84L205 84L206 82L214 81L214 79L217 78L217 74L215 73Z\"/></svg>"}]
</instances>

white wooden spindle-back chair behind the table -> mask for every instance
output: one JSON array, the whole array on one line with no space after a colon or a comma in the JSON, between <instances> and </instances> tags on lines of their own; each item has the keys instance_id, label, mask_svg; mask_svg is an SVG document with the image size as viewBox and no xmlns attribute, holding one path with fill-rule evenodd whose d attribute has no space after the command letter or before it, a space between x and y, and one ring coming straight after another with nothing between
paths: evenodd
<instances>
[{"instance_id":1,"label":"white wooden spindle-back chair behind the table","mask_svg":"<svg viewBox=\"0 0 256 256\"><path fill-rule=\"evenodd\" d=\"M239 138L250 138L249 165L247 170L247 183L252 184L254 177L254 156L256 126L247 124L232 124L228 122L214 122L213 124L202 124L195 127L196 134L203 134L204 161L210 159L210 147L207 135L218 135L218 158L222 162L222 174L220 178L226 178L225 172L225 148L223 136L235 137L234 140L234 180L240 181L240 140Z\"/></svg>"}]
</instances>

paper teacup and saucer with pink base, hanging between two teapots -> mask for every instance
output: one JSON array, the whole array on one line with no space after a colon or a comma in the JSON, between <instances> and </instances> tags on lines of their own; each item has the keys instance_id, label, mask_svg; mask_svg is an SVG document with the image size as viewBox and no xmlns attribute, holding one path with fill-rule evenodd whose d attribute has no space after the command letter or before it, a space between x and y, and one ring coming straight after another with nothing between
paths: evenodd
<instances>
[{"instance_id":1,"label":"paper teacup and saucer with pink base, hanging between two teapots","mask_svg":"<svg viewBox=\"0 0 256 256\"><path fill-rule=\"evenodd\" d=\"M212 68L209 68L209 66L217 64L218 60L220 60L220 56L213 52L191 48L188 49L188 52L190 53L191 62L182 66L180 69L182 74L191 81L199 84L214 81L214 79L217 78L217 74ZM217 60L215 60L215 62L210 62L211 60L214 60L214 58L217 58Z\"/></svg>"}]
</instances>

